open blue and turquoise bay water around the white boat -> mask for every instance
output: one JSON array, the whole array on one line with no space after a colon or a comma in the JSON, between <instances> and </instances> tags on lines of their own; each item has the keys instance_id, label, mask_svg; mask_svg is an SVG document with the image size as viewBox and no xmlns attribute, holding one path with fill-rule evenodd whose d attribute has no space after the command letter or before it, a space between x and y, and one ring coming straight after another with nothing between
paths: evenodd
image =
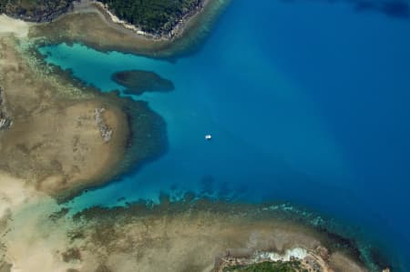
<instances>
[{"instance_id":1,"label":"open blue and turquoise bay water around the white boat","mask_svg":"<svg viewBox=\"0 0 410 272\"><path fill-rule=\"evenodd\" d=\"M200 51L176 63L83 45L41 48L47 62L103 91L121 89L110 76L128 69L176 86L134 96L165 119L169 152L69 205L187 191L289 201L362 227L405 264L410 19L353 4L235 0Z\"/></svg>"}]
</instances>

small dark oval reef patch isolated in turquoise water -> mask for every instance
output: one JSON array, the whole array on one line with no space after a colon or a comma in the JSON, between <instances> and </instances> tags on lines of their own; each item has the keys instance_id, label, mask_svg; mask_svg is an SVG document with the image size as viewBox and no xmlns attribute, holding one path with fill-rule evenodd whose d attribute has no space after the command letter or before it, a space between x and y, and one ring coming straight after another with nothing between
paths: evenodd
<instances>
[{"instance_id":1,"label":"small dark oval reef patch isolated in turquoise water","mask_svg":"<svg viewBox=\"0 0 410 272\"><path fill-rule=\"evenodd\" d=\"M117 84L125 86L125 93L128 95L141 95L144 92L170 92L175 88L172 81L149 71L121 71L113 74L111 78Z\"/></svg>"}]
</instances>

